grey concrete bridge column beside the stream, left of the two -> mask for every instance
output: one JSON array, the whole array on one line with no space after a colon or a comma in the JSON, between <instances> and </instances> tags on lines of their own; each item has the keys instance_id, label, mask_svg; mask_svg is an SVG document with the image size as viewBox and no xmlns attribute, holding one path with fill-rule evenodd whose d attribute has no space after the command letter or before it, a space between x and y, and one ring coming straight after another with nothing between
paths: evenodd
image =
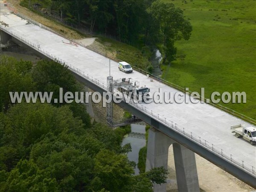
<instances>
[{"instance_id":1,"label":"grey concrete bridge column beside the stream, left of the two","mask_svg":"<svg viewBox=\"0 0 256 192\"><path fill-rule=\"evenodd\" d=\"M174 143L170 137L162 134L154 128L148 130L147 160L146 171L154 167L168 167L169 146ZM165 192L166 183L162 185L154 184L154 192Z\"/></svg>"}]
</instances>

